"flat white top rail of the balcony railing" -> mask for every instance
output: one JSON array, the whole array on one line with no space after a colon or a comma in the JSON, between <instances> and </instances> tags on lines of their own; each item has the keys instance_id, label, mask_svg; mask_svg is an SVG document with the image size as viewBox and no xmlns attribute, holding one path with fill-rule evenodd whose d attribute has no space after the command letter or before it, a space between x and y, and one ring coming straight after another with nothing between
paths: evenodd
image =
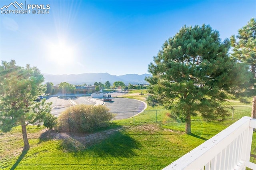
<instances>
[{"instance_id":1,"label":"flat white top rail of the balcony railing","mask_svg":"<svg viewBox=\"0 0 256 170\"><path fill-rule=\"evenodd\" d=\"M218 154L219 149L217 147L225 147L222 145L223 142L228 140L228 137L239 135L238 133L234 133L235 130L245 130L249 127L256 127L256 119L251 120L252 118L250 117L242 117L242 119L222 130L220 133L216 134L200 146L194 148L178 160L172 162L163 170L184 170L187 168L189 169L189 166L196 167L202 164L205 165L213 155ZM199 160L199 157L202 157L203 159Z\"/></svg>"}]
</instances>

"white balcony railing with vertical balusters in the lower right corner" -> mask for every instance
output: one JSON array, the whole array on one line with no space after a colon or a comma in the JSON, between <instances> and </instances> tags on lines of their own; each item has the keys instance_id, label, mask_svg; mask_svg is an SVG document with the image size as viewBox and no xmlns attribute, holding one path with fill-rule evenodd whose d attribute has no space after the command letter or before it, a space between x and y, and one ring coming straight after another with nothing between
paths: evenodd
<instances>
[{"instance_id":1,"label":"white balcony railing with vertical balusters in the lower right corner","mask_svg":"<svg viewBox=\"0 0 256 170\"><path fill-rule=\"evenodd\" d=\"M250 162L256 119L243 117L163 170L256 170Z\"/></svg>"}]
</instances>

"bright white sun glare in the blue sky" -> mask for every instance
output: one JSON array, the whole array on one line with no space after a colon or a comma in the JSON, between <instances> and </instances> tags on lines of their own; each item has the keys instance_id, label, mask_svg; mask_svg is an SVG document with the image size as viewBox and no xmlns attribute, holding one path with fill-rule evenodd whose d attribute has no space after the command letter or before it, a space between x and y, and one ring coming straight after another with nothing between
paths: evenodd
<instances>
[{"instance_id":1,"label":"bright white sun glare in the blue sky","mask_svg":"<svg viewBox=\"0 0 256 170\"><path fill-rule=\"evenodd\" d=\"M50 43L48 47L48 59L58 65L68 65L74 61L74 47L65 43Z\"/></svg>"}]
</instances>

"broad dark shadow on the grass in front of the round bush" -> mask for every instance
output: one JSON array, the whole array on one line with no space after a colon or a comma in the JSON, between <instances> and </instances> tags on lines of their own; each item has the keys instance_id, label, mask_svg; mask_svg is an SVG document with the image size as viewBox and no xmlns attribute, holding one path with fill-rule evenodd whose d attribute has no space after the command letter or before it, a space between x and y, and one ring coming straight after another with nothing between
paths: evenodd
<instances>
[{"instance_id":1,"label":"broad dark shadow on the grass in front of the round bush","mask_svg":"<svg viewBox=\"0 0 256 170\"><path fill-rule=\"evenodd\" d=\"M140 143L131 138L125 132L116 131L104 139L94 139L85 142L78 138L67 138L63 140L61 148L68 152L74 152L75 156L82 157L85 154L92 154L98 157L131 157L136 156L134 149L140 148Z\"/></svg>"}]
</instances>

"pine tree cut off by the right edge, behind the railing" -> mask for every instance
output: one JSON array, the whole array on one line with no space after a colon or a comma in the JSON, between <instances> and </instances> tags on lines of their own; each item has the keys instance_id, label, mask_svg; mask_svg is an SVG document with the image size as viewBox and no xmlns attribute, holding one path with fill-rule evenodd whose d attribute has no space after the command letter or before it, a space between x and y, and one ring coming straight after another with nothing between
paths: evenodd
<instances>
[{"instance_id":1,"label":"pine tree cut off by the right edge, behind the railing","mask_svg":"<svg viewBox=\"0 0 256 170\"><path fill-rule=\"evenodd\" d=\"M236 42L236 38L238 42ZM250 94L254 94L252 100L252 118L256 119L256 18L252 18L246 26L238 30L238 36L232 36L231 45L233 48L232 56L250 65L254 81L251 81Z\"/></svg>"}]
</instances>

